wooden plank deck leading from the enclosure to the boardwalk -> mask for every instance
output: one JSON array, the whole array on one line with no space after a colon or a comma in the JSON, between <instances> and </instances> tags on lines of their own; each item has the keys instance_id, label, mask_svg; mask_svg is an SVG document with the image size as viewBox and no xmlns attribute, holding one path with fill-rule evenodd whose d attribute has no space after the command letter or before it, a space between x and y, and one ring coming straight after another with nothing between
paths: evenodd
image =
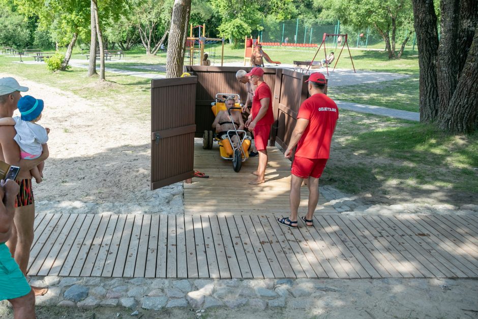
<instances>
[{"instance_id":1,"label":"wooden plank deck leading from the enclosure to the boardwalk","mask_svg":"<svg viewBox=\"0 0 478 319\"><path fill-rule=\"evenodd\" d=\"M184 184L186 214L288 214L290 188L290 161L276 147L268 147L266 182L252 186L252 172L257 169L259 157L243 162L240 172L232 169L232 161L219 156L215 143L212 150L204 150L199 144L194 149L194 169L208 179L193 178L192 184ZM302 187L300 213L307 211L309 190ZM324 205L328 200L319 198L318 213L337 213L334 207Z\"/></svg>"}]
</instances>

